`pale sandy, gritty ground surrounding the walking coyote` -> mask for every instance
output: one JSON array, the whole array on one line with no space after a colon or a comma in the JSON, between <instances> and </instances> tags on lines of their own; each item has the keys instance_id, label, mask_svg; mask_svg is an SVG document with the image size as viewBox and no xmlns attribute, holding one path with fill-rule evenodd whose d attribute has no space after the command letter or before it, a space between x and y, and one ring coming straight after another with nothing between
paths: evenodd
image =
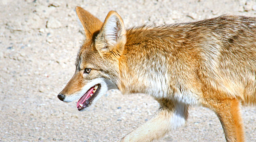
<instances>
[{"instance_id":1,"label":"pale sandy, gritty ground surrounding the walking coyote","mask_svg":"<svg viewBox=\"0 0 256 142\"><path fill-rule=\"evenodd\" d=\"M206 2L207 1L207 2ZM75 71L83 40L75 7L126 27L190 22L221 14L256 16L255 0L1 0L0 142L117 142L145 123L158 104L147 95L109 91L89 111L58 100ZM217 116L191 107L187 124L157 142L224 142ZM256 108L242 107L247 142L256 141Z\"/></svg>"}]
</instances>

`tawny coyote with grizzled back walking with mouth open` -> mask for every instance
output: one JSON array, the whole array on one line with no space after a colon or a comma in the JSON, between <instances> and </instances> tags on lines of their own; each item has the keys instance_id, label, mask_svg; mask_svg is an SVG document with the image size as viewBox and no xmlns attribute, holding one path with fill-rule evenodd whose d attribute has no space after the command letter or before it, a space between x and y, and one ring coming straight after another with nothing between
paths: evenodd
<instances>
[{"instance_id":1,"label":"tawny coyote with grizzled back walking with mouth open","mask_svg":"<svg viewBox=\"0 0 256 142\"><path fill-rule=\"evenodd\" d=\"M157 113L121 142L151 142L184 125L188 108L217 114L227 142L244 142L241 105L256 105L256 18L222 15L198 22L126 29L116 11L101 22L76 7L85 40L76 72L58 94L84 111L109 89L144 93Z\"/></svg>"}]
</instances>

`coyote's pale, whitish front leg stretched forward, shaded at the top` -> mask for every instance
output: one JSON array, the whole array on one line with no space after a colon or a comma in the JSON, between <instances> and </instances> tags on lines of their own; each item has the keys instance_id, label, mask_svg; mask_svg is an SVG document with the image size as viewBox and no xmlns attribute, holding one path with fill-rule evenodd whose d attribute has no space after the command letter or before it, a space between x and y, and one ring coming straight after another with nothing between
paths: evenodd
<instances>
[{"instance_id":1,"label":"coyote's pale, whitish front leg stretched forward, shaded at the top","mask_svg":"<svg viewBox=\"0 0 256 142\"><path fill-rule=\"evenodd\" d=\"M151 142L185 124L188 105L167 99L157 101L160 103L160 109L154 117L126 135L120 142Z\"/></svg>"}]
</instances>

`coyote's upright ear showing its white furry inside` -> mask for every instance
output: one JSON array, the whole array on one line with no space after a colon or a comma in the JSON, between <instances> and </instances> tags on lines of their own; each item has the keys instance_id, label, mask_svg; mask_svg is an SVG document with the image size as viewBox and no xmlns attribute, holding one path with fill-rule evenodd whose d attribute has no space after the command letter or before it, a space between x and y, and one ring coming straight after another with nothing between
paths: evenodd
<instances>
[{"instance_id":1,"label":"coyote's upright ear showing its white furry inside","mask_svg":"<svg viewBox=\"0 0 256 142\"><path fill-rule=\"evenodd\" d=\"M100 53L116 52L122 54L126 43L124 22L116 11L110 11L96 37L96 48Z\"/></svg>"}]
</instances>

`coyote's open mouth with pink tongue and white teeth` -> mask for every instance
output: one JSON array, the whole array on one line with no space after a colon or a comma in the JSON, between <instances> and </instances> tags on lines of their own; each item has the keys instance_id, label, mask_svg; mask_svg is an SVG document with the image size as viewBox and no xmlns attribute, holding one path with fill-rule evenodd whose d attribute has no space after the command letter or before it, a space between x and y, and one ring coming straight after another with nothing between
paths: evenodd
<instances>
[{"instance_id":1,"label":"coyote's open mouth with pink tongue and white teeth","mask_svg":"<svg viewBox=\"0 0 256 142\"><path fill-rule=\"evenodd\" d=\"M96 84L91 87L76 103L76 107L79 111L89 106L93 99L96 97L98 90L100 88L100 84Z\"/></svg>"}]
</instances>

